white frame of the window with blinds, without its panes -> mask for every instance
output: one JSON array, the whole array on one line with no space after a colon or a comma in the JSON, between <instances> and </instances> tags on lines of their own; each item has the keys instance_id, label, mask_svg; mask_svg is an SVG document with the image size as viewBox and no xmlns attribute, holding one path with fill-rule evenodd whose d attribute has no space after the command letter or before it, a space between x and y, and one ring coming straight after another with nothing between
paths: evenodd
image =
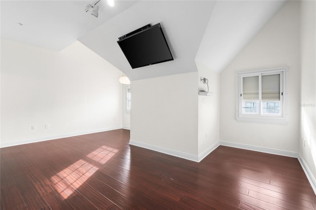
<instances>
[{"instance_id":1,"label":"white frame of the window with blinds, without its panes","mask_svg":"<svg viewBox=\"0 0 316 210\"><path fill-rule=\"evenodd\" d=\"M263 114L261 100L261 76L280 73L280 114ZM287 124L287 74L288 67L279 67L264 70L242 71L237 73L237 122ZM259 75L259 113L242 113L242 78Z\"/></svg>"}]
</instances>

